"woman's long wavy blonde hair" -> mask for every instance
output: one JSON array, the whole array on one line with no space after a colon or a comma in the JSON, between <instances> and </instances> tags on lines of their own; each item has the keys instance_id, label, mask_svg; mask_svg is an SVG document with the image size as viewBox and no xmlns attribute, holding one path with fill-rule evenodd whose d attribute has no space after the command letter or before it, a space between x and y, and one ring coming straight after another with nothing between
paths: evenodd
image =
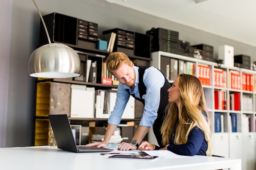
<instances>
[{"instance_id":1,"label":"woman's long wavy blonde hair","mask_svg":"<svg viewBox=\"0 0 256 170\"><path fill-rule=\"evenodd\" d=\"M170 137L173 135L175 126L174 144L185 144L189 132L197 126L204 132L208 142L207 155L211 155L211 121L206 108L204 90L200 80L187 74L180 74L177 77L177 86L180 89L180 103L172 103L168 108L168 114L161 128L163 144L170 144ZM207 118L202 114L207 113Z\"/></svg>"}]
</instances>

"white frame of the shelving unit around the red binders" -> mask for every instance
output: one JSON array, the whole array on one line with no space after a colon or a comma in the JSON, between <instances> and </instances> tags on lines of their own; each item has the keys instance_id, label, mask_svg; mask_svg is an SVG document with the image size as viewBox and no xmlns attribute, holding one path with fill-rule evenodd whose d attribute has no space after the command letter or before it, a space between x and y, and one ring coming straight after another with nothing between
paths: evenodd
<instances>
[{"instance_id":1,"label":"white frame of the shelving unit around the red binders","mask_svg":"<svg viewBox=\"0 0 256 170\"><path fill-rule=\"evenodd\" d=\"M182 55L166 53L162 51L153 52L151 54L152 61L150 62L150 66L155 66L157 68L161 68L161 56L170 57L178 60L184 60L188 62L195 63L195 76L200 76L198 71L198 65L204 64L210 67L210 84L203 85L205 99L207 102L208 112L211 118L212 129L213 129L213 154L214 155L222 155L224 157L229 158L238 158L242 159L242 169L243 170L255 170L255 148L256 148L256 135L255 135L255 119L256 119L256 92L255 92L255 76L256 71L247 70L243 68L237 67L227 67L223 64L220 66L215 62L209 62L204 60L199 60L192 57L186 57ZM171 68L171 66L170 66ZM213 68L220 68L227 72L227 86L226 87L216 87L214 86L214 78L213 78ZM238 84L239 89L231 88L231 72L236 71L240 76L240 84ZM252 91L243 90L243 73L252 75L252 83L251 87ZM214 90L222 90L227 93L227 102L225 109L215 109L215 100L214 100ZM240 108L239 110L233 110L230 108L230 97L231 93L238 93L240 99ZM252 102L252 105L246 105L246 102L243 102L245 98L243 95L249 96L249 101ZM252 107L252 108L251 108ZM222 132L215 132L214 127L214 114L221 113L223 115L223 130ZM232 132L231 128L231 119L230 114L236 115L237 121L237 132ZM243 128L242 118L243 115L250 117L249 121L249 130L245 131ZM151 139L149 135L149 140ZM152 139L153 140L153 139Z\"/></svg>"}]
</instances>

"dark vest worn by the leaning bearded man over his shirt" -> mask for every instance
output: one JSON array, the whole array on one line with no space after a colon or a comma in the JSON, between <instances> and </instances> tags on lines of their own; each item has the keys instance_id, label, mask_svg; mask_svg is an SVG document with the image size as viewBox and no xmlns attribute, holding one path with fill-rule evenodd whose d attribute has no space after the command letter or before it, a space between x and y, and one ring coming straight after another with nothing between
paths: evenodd
<instances>
[{"instance_id":1,"label":"dark vest worn by the leaning bearded man over his shirt","mask_svg":"<svg viewBox=\"0 0 256 170\"><path fill-rule=\"evenodd\" d=\"M144 75L145 70L150 66L138 66L138 67L139 67L138 88L139 88L140 99L135 97L135 94L132 94L132 97L139 100L140 102L142 102L145 105L144 96L146 94L146 89L147 88L146 88L146 86L143 82L143 75ZM156 77L156 80L157 80L157 77ZM164 147L164 146L162 145L162 135L161 135L160 130L161 130L162 123L164 121L166 106L168 104L168 92L167 92L167 90L170 87L171 87L171 84L168 82L168 80L165 77L164 86L161 88L161 91L160 91L160 103L159 103L159 107L158 107L158 110L157 110L157 119L155 120L155 123L153 124L153 131L154 131L155 137L157 138L157 142L158 142L159 146L162 146L162 147ZM126 89L126 91L128 93L130 93L129 89Z\"/></svg>"}]
</instances>

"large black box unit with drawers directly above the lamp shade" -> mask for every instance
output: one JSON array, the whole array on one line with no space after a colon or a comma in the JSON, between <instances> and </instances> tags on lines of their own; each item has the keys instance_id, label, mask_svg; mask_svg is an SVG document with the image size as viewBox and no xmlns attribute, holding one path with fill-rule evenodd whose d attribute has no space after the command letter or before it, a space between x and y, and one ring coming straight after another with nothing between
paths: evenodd
<instances>
[{"instance_id":1,"label":"large black box unit with drawers directly above the lamp shade","mask_svg":"<svg viewBox=\"0 0 256 170\"><path fill-rule=\"evenodd\" d=\"M62 42L96 49L98 24L60 13L43 16L51 42ZM40 44L48 44L43 22L40 22Z\"/></svg>"}]
</instances>

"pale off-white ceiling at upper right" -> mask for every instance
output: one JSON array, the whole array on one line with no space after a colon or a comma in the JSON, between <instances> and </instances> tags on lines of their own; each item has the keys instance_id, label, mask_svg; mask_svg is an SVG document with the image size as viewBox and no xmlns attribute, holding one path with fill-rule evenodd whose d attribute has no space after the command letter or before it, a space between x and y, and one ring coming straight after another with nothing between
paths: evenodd
<instances>
[{"instance_id":1,"label":"pale off-white ceiling at upper right","mask_svg":"<svg viewBox=\"0 0 256 170\"><path fill-rule=\"evenodd\" d=\"M105 0L256 46L256 0Z\"/></svg>"}]
</instances>

